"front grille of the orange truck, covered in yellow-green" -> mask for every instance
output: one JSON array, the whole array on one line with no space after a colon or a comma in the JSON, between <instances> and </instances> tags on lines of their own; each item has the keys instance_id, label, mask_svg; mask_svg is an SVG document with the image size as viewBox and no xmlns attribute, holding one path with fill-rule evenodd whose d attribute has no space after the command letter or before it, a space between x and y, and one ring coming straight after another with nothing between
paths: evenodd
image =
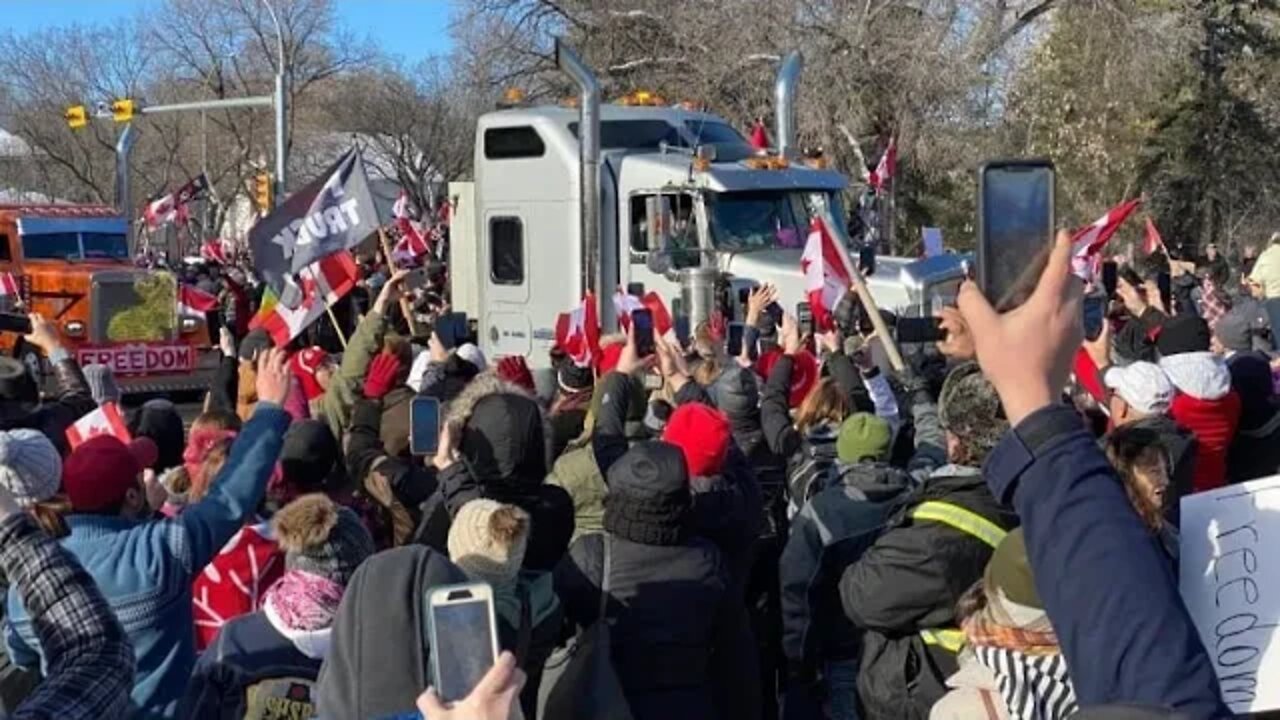
<instances>
[{"instance_id":1,"label":"front grille of the orange truck, covered in yellow-green","mask_svg":"<svg viewBox=\"0 0 1280 720\"><path fill-rule=\"evenodd\" d=\"M178 334L178 287L168 273L96 273L92 342L164 342Z\"/></svg>"}]
</instances>

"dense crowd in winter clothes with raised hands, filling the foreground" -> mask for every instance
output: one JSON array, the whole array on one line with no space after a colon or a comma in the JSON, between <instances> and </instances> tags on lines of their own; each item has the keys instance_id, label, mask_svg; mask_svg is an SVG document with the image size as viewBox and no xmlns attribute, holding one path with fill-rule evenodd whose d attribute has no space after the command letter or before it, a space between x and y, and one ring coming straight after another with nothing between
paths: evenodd
<instances>
[{"instance_id":1,"label":"dense crowd in winter clothes with raised hands, filling the foreground","mask_svg":"<svg viewBox=\"0 0 1280 720\"><path fill-rule=\"evenodd\" d=\"M1252 270L1146 258L1085 337L1096 288L1064 234L1001 313L964 283L945 340L897 370L856 302L804 337L764 286L739 356L710 325L645 356L628 327L590 364L557 352L549 398L524 357L408 337L396 272L365 283L340 356L273 347L232 311L189 429L154 400L128 442L74 448L67 428L119 389L32 316L58 391L0 359L0 702L148 720L1229 716L1178 591L1178 502L1280 471L1272 266L1280 242ZM420 396L444 409L425 457ZM492 588L503 652L447 703L429 669L452 648L431 647L424 598L465 582ZM608 633L582 644L593 628ZM604 670L553 670L573 643L603 647Z\"/></svg>"}]
</instances>

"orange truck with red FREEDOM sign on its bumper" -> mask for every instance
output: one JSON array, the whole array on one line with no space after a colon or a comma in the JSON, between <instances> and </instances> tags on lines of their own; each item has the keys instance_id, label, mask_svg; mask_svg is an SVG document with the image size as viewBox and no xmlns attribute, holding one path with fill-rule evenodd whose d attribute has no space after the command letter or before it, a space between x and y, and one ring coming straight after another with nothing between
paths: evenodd
<instances>
[{"instance_id":1,"label":"orange truck with red FREEDOM sign on its bumper","mask_svg":"<svg viewBox=\"0 0 1280 720\"><path fill-rule=\"evenodd\" d=\"M81 365L115 370L125 393L205 389L216 351L204 318L180 315L177 278L137 268L128 223L101 205L0 205L0 310L55 322ZM17 291L17 292L14 292ZM15 333L0 350L45 384L40 352Z\"/></svg>"}]
</instances>

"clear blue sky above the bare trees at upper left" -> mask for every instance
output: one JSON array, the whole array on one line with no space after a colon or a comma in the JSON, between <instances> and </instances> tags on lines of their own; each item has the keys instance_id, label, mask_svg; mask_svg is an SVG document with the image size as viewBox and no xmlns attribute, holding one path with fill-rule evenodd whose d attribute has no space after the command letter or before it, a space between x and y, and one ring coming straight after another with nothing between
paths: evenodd
<instances>
[{"instance_id":1,"label":"clear blue sky above the bare trees at upper left","mask_svg":"<svg viewBox=\"0 0 1280 720\"><path fill-rule=\"evenodd\" d=\"M334 0L339 22L407 60L449 51L453 0ZM72 22L108 23L159 5L157 0L3 0L0 24L23 33Z\"/></svg>"}]
</instances>

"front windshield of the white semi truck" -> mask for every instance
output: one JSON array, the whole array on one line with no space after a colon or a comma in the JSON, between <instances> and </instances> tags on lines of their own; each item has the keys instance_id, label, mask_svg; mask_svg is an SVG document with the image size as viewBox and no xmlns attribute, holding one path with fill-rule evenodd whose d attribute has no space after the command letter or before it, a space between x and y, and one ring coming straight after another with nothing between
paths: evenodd
<instances>
[{"instance_id":1,"label":"front windshield of the white semi truck","mask_svg":"<svg viewBox=\"0 0 1280 720\"><path fill-rule=\"evenodd\" d=\"M838 197L815 190L710 192L705 201L712 242L721 250L800 249L824 204L841 217ZM837 240L846 234L840 229Z\"/></svg>"}]
</instances>

